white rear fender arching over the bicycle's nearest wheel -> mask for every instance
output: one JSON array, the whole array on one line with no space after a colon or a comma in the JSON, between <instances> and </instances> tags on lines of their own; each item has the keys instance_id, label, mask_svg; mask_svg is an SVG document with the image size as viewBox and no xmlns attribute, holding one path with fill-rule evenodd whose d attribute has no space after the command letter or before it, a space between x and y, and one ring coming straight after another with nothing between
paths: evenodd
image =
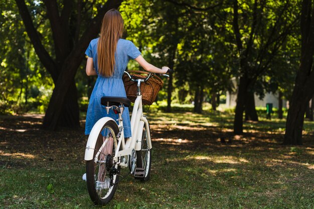
<instances>
[{"instance_id":1,"label":"white rear fender arching over the bicycle's nearest wheel","mask_svg":"<svg viewBox=\"0 0 314 209\"><path fill-rule=\"evenodd\" d=\"M90 131L90 134L88 136L88 140L87 140L87 144L86 144L85 157L84 157L85 160L93 159L94 148L96 145L96 141L97 141L99 132L101 131L104 124L106 122L108 122L109 120L114 121L111 117L102 117L93 126L93 128ZM116 122L115 122L115 124L116 124Z\"/></svg>"}]
</instances>

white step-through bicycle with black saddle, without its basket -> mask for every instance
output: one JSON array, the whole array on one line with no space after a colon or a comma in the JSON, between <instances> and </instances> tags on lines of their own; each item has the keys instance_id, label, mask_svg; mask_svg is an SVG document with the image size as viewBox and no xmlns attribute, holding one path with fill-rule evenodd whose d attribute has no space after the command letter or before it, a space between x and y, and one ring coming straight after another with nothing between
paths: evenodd
<instances>
[{"instance_id":1,"label":"white step-through bicycle with black saddle, without its basket","mask_svg":"<svg viewBox=\"0 0 314 209\"><path fill-rule=\"evenodd\" d=\"M111 117L100 118L93 126L85 149L86 181L91 200L95 204L106 204L117 189L120 169L129 167L135 179L146 181L150 177L151 138L149 123L142 108L141 82L148 80L153 73L145 78L129 78L137 83L137 94L131 117L132 137L126 141L123 133L122 112L130 106L131 101L124 97L104 96L101 104L106 111L113 110L118 114L118 123ZM164 74L165 76L169 76Z\"/></svg>"}]
</instances>

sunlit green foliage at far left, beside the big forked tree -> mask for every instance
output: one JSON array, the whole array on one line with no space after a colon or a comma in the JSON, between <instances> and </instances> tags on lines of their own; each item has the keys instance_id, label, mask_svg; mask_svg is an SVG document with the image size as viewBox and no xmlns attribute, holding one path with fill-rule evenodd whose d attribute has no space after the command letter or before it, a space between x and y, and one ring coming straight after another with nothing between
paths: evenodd
<instances>
[{"instance_id":1,"label":"sunlit green foliage at far left, beside the big forked tree","mask_svg":"<svg viewBox=\"0 0 314 209\"><path fill-rule=\"evenodd\" d=\"M37 13L45 12L41 7L30 5ZM0 50L0 113L44 112L53 89L53 82L40 63L26 35L23 21L14 1L1 1L0 41L5 43ZM37 15L35 22L43 32L49 46L47 22Z\"/></svg>"}]
</instances>

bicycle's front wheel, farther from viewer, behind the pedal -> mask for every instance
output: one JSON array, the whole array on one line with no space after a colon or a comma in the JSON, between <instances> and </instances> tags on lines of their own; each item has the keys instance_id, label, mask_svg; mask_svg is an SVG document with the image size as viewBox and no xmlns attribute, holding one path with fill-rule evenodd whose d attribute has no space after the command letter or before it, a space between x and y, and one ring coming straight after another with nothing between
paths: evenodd
<instances>
[{"instance_id":1,"label":"bicycle's front wheel, farther from viewer, behind the pedal","mask_svg":"<svg viewBox=\"0 0 314 209\"><path fill-rule=\"evenodd\" d=\"M150 138L150 128L149 124L144 124L142 140L141 140L141 150L136 151L136 167L144 168L144 176L136 177L136 179L140 179L140 181L147 181L150 178L150 167L151 167L151 150L148 148L148 132L149 130L149 138Z\"/></svg>"}]
</instances>

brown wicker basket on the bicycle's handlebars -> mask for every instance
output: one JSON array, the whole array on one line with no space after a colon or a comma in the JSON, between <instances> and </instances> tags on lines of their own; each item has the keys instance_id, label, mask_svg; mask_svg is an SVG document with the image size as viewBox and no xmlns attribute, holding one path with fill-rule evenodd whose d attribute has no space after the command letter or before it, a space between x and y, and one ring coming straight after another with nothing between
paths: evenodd
<instances>
[{"instance_id":1,"label":"brown wicker basket on the bicycle's handlebars","mask_svg":"<svg viewBox=\"0 0 314 209\"><path fill-rule=\"evenodd\" d=\"M128 71L128 73L134 75L137 78L144 78L147 76L147 74L149 74L148 72L139 70ZM123 75L122 79L124 82L126 97L129 98L131 102L134 102L137 93L137 83L130 80L130 78L126 74ZM151 76L146 82L142 82L140 84L140 92L142 93L142 104L152 104L152 102L156 100L157 94L163 84L164 81L156 75Z\"/></svg>"}]
</instances>

